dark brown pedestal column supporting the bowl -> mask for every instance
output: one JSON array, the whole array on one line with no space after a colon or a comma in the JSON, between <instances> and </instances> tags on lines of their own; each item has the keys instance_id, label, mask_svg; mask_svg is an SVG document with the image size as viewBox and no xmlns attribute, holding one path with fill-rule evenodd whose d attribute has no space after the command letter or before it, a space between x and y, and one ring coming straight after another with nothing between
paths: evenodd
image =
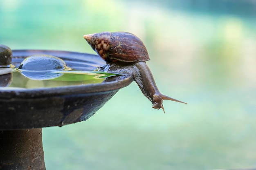
<instances>
[{"instance_id":1,"label":"dark brown pedestal column supporting the bowl","mask_svg":"<svg viewBox=\"0 0 256 170\"><path fill-rule=\"evenodd\" d=\"M0 170L45 170L42 128L1 131Z\"/></svg>"}]
</instances>

